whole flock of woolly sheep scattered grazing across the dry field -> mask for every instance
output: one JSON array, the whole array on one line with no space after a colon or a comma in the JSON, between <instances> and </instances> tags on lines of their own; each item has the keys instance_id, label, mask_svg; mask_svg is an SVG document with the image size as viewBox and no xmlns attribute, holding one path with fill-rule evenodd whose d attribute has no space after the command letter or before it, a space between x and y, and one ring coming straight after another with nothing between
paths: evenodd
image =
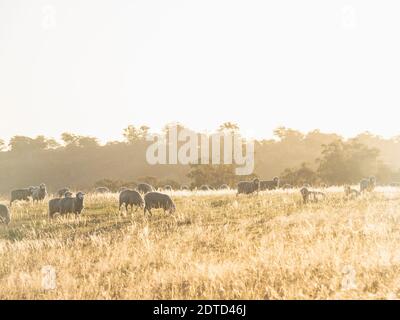
<instances>
[{"instance_id":1,"label":"whole flock of woolly sheep scattered grazing across the dry field","mask_svg":"<svg viewBox=\"0 0 400 320\"><path fill-rule=\"evenodd\" d=\"M376 179L369 177L361 180L360 190L352 189L350 186L344 186L344 192L346 197L358 197L365 191L373 191L376 185ZM282 187L283 189L291 188L292 186L284 184L280 186L280 180L278 177L272 180L259 180L254 179L252 181L241 181L237 184L237 196L240 194L253 194L263 190L274 190ZM326 186L325 186L326 187ZM229 186L224 184L219 189L229 189ZM171 191L172 187L167 185L164 186L163 190ZM187 185L183 185L181 190L190 190ZM212 190L208 185L203 185L199 188L202 191ZM95 190L96 193L108 193L110 190L106 187L99 187ZM304 185L300 189L301 196L304 203L317 202L319 199L325 198L325 194L320 191L310 190L309 185ZM41 184L36 187L29 187L25 189L18 189L11 191L10 207L14 201L32 201L39 202L43 201L47 195L47 189L45 184ZM84 196L85 194L81 191L77 192L75 196L68 188L63 188L57 192L58 197L51 199L48 203L49 206L49 217L53 218L54 215L60 214L81 214L84 208ZM151 215L152 209L163 209L164 212L173 213L176 210L176 206L168 194L161 193L155 190L155 188L147 183L140 183L135 190L129 188L121 188L119 194L119 209L124 206L128 211L128 208L136 211L139 208L144 210L144 214L147 212ZM7 206L0 204L0 223L9 224L11 221L10 211Z\"/></svg>"}]
</instances>

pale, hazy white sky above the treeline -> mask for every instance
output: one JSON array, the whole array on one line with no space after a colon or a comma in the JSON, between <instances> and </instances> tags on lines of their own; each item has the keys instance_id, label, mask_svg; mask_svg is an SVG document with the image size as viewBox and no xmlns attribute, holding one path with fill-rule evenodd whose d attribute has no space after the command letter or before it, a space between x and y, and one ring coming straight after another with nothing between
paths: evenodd
<instances>
[{"instance_id":1,"label":"pale, hazy white sky above the treeline","mask_svg":"<svg viewBox=\"0 0 400 320\"><path fill-rule=\"evenodd\" d=\"M0 138L400 134L399 1L0 0Z\"/></svg>"}]
</instances>

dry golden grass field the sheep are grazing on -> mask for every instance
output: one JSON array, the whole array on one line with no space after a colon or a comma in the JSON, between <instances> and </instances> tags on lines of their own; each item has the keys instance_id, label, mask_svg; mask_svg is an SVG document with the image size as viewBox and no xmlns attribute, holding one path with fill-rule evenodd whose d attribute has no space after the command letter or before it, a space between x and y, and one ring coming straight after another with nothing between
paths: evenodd
<instances>
[{"instance_id":1,"label":"dry golden grass field the sheep are grazing on","mask_svg":"<svg viewBox=\"0 0 400 320\"><path fill-rule=\"evenodd\" d=\"M150 218L120 213L117 194L52 221L47 202L18 203L0 225L0 299L400 297L400 191L327 193L303 205L298 190L183 192L174 215Z\"/></svg>"}]
</instances>

